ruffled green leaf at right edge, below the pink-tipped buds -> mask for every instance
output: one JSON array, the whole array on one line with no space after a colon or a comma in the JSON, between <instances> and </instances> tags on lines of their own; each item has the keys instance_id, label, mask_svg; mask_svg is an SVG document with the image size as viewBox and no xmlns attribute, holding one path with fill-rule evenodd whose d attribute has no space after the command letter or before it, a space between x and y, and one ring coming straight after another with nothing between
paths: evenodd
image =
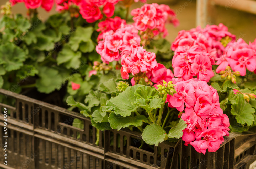
<instances>
[{"instance_id":1,"label":"ruffled green leaf at right edge, below the pink-tipped buds","mask_svg":"<svg viewBox=\"0 0 256 169\"><path fill-rule=\"evenodd\" d=\"M231 108L231 113L236 116L236 120L238 123L246 123L248 126L251 126L253 124L253 114L255 113L255 109L246 102L242 94L238 94L238 97L236 98L236 103L231 105Z\"/></svg>"}]
</instances>

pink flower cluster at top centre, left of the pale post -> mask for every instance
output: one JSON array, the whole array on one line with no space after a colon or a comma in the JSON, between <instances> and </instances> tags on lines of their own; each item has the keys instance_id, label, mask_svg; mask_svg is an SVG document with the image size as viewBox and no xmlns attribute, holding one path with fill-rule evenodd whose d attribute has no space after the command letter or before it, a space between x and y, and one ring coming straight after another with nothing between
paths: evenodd
<instances>
[{"instance_id":1,"label":"pink flower cluster at top centre, left of the pale post","mask_svg":"<svg viewBox=\"0 0 256 169\"><path fill-rule=\"evenodd\" d=\"M154 35L163 33L163 37L168 34L165 23L179 24L175 12L168 5L145 4L141 8L133 9L131 15L134 16L134 26L140 31L151 30Z\"/></svg>"}]
</instances>

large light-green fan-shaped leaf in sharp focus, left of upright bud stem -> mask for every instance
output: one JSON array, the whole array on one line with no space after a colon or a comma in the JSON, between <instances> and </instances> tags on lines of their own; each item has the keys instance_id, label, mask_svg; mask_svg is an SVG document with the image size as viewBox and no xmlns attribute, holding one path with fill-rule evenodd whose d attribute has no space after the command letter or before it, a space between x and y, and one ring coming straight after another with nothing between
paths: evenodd
<instances>
[{"instance_id":1,"label":"large light-green fan-shaped leaf in sharp focus, left of upright bud stem","mask_svg":"<svg viewBox=\"0 0 256 169\"><path fill-rule=\"evenodd\" d=\"M125 91L119 93L118 96L112 97L107 101L106 107L109 110L114 110L115 114L120 114L123 117L130 116L131 112L137 110L138 106L132 105L131 103L136 101L136 96L134 96L135 90L140 85L128 86Z\"/></svg>"}]
</instances>

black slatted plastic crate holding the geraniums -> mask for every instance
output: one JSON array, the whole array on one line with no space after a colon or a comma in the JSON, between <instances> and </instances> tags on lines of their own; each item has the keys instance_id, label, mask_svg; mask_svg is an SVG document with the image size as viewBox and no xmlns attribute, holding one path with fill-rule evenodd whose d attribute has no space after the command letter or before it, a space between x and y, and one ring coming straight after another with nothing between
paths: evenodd
<instances>
[{"instance_id":1,"label":"black slatted plastic crate holding the geraniums","mask_svg":"<svg viewBox=\"0 0 256 169\"><path fill-rule=\"evenodd\" d=\"M151 148L147 144L141 146L141 134L129 130L100 132L97 146L96 129L83 115L4 89L0 89L0 94L8 94L8 98L15 100L15 106L0 103L2 148L3 108L7 107L10 114L9 168L251 169L250 165L256 163L256 134L253 133L230 133L220 149L205 155L190 145L185 146L182 140L164 141ZM74 118L84 122L84 129L72 126ZM0 152L3 160L3 149ZM8 167L0 164L0 168Z\"/></svg>"}]
</instances>

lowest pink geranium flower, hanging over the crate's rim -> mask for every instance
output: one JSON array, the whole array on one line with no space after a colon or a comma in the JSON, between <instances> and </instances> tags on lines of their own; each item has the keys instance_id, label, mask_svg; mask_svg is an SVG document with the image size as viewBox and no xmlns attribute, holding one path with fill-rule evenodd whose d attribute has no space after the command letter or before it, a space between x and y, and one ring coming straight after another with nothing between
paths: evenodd
<instances>
[{"instance_id":1,"label":"lowest pink geranium flower, hanging over the crate's rim","mask_svg":"<svg viewBox=\"0 0 256 169\"><path fill-rule=\"evenodd\" d=\"M220 148L221 141L219 138L222 136L222 131L219 128L207 129L202 132L203 140L193 141L190 144L198 152L205 154L206 149L209 152L215 152Z\"/></svg>"}]
</instances>

